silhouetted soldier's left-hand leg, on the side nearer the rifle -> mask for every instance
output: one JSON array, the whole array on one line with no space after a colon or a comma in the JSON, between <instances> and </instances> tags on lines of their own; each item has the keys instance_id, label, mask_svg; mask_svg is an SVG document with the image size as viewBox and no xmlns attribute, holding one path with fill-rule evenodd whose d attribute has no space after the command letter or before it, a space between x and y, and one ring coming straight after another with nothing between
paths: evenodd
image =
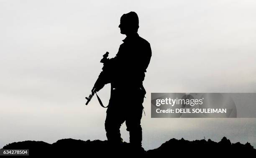
<instances>
[{"instance_id":1,"label":"silhouetted soldier's left-hand leg, on the side nearer the rifle","mask_svg":"<svg viewBox=\"0 0 256 158\"><path fill-rule=\"evenodd\" d=\"M109 107L105 120L105 130L108 141L110 143L121 143L120 127L124 122L124 118L120 115L120 111L116 108Z\"/></svg>"}]
</instances>

